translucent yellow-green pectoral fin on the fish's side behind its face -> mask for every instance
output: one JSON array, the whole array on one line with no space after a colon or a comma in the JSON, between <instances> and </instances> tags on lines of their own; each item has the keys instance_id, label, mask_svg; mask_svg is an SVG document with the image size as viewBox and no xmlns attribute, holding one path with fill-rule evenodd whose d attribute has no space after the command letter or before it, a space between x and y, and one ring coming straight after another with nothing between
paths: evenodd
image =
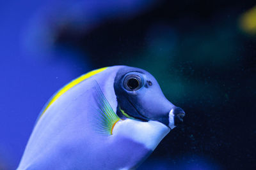
<instances>
[{"instance_id":1,"label":"translucent yellow-green pectoral fin on the fish's side behind its face","mask_svg":"<svg viewBox=\"0 0 256 170\"><path fill-rule=\"evenodd\" d=\"M113 109L111 108L102 90L100 90L97 81L95 81L93 90L95 90L95 95L93 95L93 97L98 106L97 114L95 114L95 118L93 120L95 131L98 132L99 134L111 135L113 127L115 126L116 122L118 122L121 119L116 115L115 111L113 111Z\"/></svg>"}]
</instances>

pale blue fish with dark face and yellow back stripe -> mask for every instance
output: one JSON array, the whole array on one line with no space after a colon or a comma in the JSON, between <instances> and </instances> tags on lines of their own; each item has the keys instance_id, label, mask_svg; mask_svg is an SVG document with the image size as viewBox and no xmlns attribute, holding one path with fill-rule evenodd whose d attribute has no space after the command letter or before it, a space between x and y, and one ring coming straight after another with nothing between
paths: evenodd
<instances>
[{"instance_id":1,"label":"pale blue fish with dark face and yellow back stripe","mask_svg":"<svg viewBox=\"0 0 256 170\"><path fill-rule=\"evenodd\" d=\"M147 71L96 69L45 104L17 169L136 169L184 116Z\"/></svg>"}]
</instances>

